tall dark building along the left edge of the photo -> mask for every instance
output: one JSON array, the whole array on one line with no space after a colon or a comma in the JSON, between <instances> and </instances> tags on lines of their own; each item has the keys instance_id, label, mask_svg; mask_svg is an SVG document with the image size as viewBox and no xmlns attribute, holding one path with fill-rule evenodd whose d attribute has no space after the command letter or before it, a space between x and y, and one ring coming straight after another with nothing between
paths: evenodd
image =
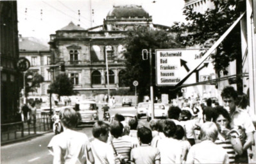
<instances>
[{"instance_id":1,"label":"tall dark building along the left edge of the photo","mask_svg":"<svg viewBox=\"0 0 256 164\"><path fill-rule=\"evenodd\" d=\"M1 124L19 121L19 60L17 1L0 2Z\"/></svg>"}]
</instances>

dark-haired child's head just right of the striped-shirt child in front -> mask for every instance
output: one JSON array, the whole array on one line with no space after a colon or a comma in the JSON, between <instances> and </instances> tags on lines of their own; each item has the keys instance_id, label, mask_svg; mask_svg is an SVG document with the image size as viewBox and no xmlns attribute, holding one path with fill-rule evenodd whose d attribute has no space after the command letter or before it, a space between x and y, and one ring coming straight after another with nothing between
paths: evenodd
<instances>
[{"instance_id":1,"label":"dark-haired child's head just right of the striped-shirt child in front","mask_svg":"<svg viewBox=\"0 0 256 164\"><path fill-rule=\"evenodd\" d=\"M148 127L139 127L137 131L137 136L141 143L149 144L152 141L152 132Z\"/></svg>"}]
</instances>

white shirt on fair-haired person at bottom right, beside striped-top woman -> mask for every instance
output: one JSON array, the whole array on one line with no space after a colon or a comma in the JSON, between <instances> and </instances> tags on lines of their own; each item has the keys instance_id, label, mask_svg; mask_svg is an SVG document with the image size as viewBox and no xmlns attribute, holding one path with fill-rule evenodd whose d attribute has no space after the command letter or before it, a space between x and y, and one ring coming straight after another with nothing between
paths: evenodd
<instances>
[{"instance_id":1,"label":"white shirt on fair-haired person at bottom right, beside striped-top woman","mask_svg":"<svg viewBox=\"0 0 256 164\"><path fill-rule=\"evenodd\" d=\"M205 140L191 147L186 163L228 163L228 154L219 145Z\"/></svg>"}]
</instances>

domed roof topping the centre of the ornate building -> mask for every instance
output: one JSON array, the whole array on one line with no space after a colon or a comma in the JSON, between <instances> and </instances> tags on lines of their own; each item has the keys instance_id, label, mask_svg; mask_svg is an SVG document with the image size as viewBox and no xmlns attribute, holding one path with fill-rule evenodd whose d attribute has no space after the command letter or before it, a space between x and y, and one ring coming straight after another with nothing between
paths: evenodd
<instances>
[{"instance_id":1,"label":"domed roof topping the centre of the ornate building","mask_svg":"<svg viewBox=\"0 0 256 164\"><path fill-rule=\"evenodd\" d=\"M112 10L108 12L107 17L149 17L142 6L138 5L125 5L125 6L113 6Z\"/></svg>"}]
</instances>

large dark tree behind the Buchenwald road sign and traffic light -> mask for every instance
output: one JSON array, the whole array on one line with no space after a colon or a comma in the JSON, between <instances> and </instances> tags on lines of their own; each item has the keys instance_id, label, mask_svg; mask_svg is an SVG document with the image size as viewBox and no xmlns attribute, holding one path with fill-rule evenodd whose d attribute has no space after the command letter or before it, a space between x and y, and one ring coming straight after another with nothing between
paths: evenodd
<instances>
[{"instance_id":1,"label":"large dark tree behind the Buchenwald road sign and traffic light","mask_svg":"<svg viewBox=\"0 0 256 164\"><path fill-rule=\"evenodd\" d=\"M140 27L133 31L128 31L126 38L126 74L124 81L126 86L134 89L132 85L134 80L139 82L137 92L141 98L143 95L149 95L149 60L142 60L142 49L151 48L153 55L153 68L155 67L155 49L175 49L183 47L174 41L175 39L163 30L154 30L148 27ZM155 69L153 69L153 84L155 84ZM155 95L166 87L154 87Z\"/></svg>"}]
</instances>

